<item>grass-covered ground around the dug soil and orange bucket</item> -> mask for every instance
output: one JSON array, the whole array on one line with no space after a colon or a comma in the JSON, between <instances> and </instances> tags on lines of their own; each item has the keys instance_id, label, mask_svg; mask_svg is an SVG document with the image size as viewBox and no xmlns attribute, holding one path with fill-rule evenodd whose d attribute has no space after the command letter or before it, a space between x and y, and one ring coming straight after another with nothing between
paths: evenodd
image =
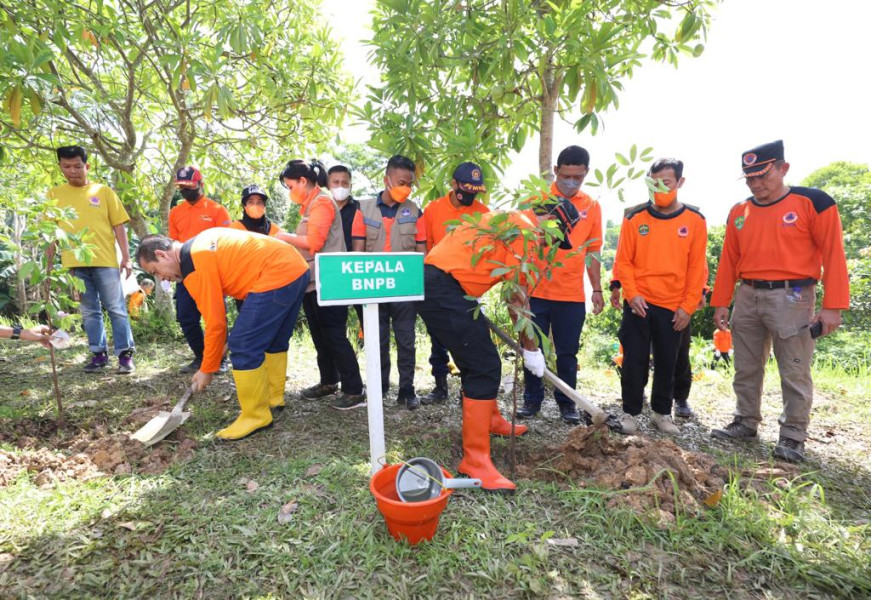
<instances>
[{"instance_id":1,"label":"grass-covered ground around the dug soil and orange bucket","mask_svg":"<svg viewBox=\"0 0 871 600\"><path fill-rule=\"evenodd\" d=\"M291 350L289 406L271 430L233 444L214 441L212 433L237 410L231 378L222 375L192 402L184 426L198 443L191 460L157 475L43 486L23 473L0 488L0 596L871 596L867 373L839 373L832 365L816 373L810 461L796 471L769 458L779 414L776 372L766 381L762 439L750 445L710 438L711 427L728 422L733 400L727 377L703 373L692 395L698 416L676 441L716 456L734 478L720 504L700 516L679 514L657 525L606 508L618 492L521 479L513 497L455 494L434 540L409 547L389 537L368 491L365 410L339 413L325 400L298 397L315 381L312 350L300 340ZM86 348L65 351L60 380L70 426L58 433L37 426L53 415L44 352L0 346L0 433L7 440L0 448L16 455L26 452L19 443L26 437L37 447L62 447L80 430L129 431L134 409L181 394L181 346L143 345L138 370L127 377L87 376ZM431 383L426 346L419 344L423 390ZM617 379L609 370L584 367L579 377L591 399L616 408ZM452 396L458 386L452 378ZM568 433L548 402L517 442L521 460ZM459 417L454 400L412 413L388 398L390 460L430 456L455 470ZM646 419L642 429L657 435ZM495 441L494 454L507 470L507 442ZM289 503L296 510L280 523L279 510Z\"/></svg>"}]
</instances>

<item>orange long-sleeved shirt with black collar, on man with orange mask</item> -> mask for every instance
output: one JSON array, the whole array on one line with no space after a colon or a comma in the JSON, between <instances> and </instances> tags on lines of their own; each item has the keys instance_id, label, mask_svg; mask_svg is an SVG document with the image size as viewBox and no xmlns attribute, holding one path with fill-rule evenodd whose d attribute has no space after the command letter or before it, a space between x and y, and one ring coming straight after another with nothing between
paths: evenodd
<instances>
[{"instance_id":1,"label":"orange long-sleeved shirt with black collar, on man with orange mask","mask_svg":"<svg viewBox=\"0 0 871 600\"><path fill-rule=\"evenodd\" d=\"M693 314L705 285L707 245L705 218L686 205L670 215L649 205L632 211L620 228L615 263L623 297Z\"/></svg>"}]
</instances>

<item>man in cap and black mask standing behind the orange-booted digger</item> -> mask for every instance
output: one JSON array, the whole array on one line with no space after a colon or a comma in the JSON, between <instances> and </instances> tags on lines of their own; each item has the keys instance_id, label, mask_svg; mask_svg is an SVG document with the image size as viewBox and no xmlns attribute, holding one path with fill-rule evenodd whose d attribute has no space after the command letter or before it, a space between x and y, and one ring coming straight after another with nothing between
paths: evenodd
<instances>
[{"instance_id":1,"label":"man in cap and black mask standing behind the orange-booted digger","mask_svg":"<svg viewBox=\"0 0 871 600\"><path fill-rule=\"evenodd\" d=\"M464 162L454 169L450 191L438 200L433 200L427 204L423 211L427 252L432 250L433 246L447 235L449 221L458 221L463 218L463 215L490 211L480 200L476 199L478 194L483 194L486 191L481 167L475 163ZM429 364L432 366L435 388L420 399L422 404L444 402L448 397L448 373L450 373L448 351L432 336L430 336L430 344L432 350L429 355Z\"/></svg>"}]
</instances>

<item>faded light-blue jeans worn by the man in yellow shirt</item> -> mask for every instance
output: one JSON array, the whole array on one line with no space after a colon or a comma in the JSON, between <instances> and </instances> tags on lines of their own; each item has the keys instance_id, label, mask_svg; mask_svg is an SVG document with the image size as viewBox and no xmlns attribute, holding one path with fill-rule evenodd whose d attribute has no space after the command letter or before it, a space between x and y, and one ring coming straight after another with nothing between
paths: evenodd
<instances>
[{"instance_id":1,"label":"faded light-blue jeans worn by the man in yellow shirt","mask_svg":"<svg viewBox=\"0 0 871 600\"><path fill-rule=\"evenodd\" d=\"M124 350L133 350L133 332L127 318L127 305L121 290L121 272L117 267L73 267L73 275L85 283L85 292L79 308L82 324L88 335L91 352L106 352L106 328L103 326L103 309L109 313L112 323L112 341L115 355Z\"/></svg>"}]
</instances>

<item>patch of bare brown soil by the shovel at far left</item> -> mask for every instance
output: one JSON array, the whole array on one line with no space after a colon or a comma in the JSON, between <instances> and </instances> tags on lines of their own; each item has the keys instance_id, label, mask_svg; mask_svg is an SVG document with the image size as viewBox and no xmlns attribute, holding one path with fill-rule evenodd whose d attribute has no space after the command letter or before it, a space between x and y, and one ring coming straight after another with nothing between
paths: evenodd
<instances>
[{"instance_id":1,"label":"patch of bare brown soil by the shovel at far left","mask_svg":"<svg viewBox=\"0 0 871 600\"><path fill-rule=\"evenodd\" d=\"M128 423L134 425L135 430L142 419L147 421L151 416L146 418L140 411L131 415ZM131 439L127 432L110 434L103 425L80 431L70 438L58 435L48 423L32 421L17 423L11 433L0 435L0 441L22 449L14 453L0 450L0 487L14 481L23 471L33 474L34 483L40 487L106 475L153 475L173 463L189 460L197 445L182 430L146 448Z\"/></svg>"}]
</instances>

